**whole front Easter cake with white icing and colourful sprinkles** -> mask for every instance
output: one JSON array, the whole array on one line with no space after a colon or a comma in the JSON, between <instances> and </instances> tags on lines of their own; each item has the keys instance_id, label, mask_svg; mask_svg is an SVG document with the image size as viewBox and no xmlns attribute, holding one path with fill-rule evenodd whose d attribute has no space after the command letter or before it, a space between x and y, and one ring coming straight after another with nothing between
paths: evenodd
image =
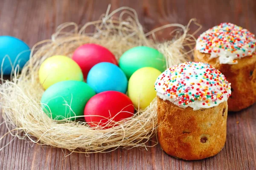
<instances>
[{"instance_id":1,"label":"whole front Easter cake with white icing and colourful sprinkles","mask_svg":"<svg viewBox=\"0 0 256 170\"><path fill-rule=\"evenodd\" d=\"M230 83L203 62L166 69L155 82L157 137L169 155L185 160L214 156L226 141Z\"/></svg>"}]
</instances>

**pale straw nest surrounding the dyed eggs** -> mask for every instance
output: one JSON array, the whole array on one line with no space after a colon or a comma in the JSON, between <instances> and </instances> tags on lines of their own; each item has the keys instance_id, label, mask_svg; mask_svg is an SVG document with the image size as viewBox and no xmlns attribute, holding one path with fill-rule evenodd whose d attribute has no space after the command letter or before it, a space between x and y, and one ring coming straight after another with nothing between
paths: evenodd
<instances>
[{"instance_id":1,"label":"pale straw nest surrounding the dyed eggs","mask_svg":"<svg viewBox=\"0 0 256 170\"><path fill-rule=\"evenodd\" d=\"M2 124L6 124L9 132L1 136L0 140L11 134L14 138L83 153L109 152L118 147L146 148L157 144L155 140L149 142L157 127L156 99L145 110L137 111L133 117L109 129L95 130L83 121L58 122L50 119L41 109L40 100L44 93L38 79L41 63L53 55L71 57L73 51L85 43L105 46L115 54L116 59L132 47L145 45L164 54L167 67L189 60L190 51L185 49L192 49L195 43L193 35L188 34L190 23L188 26L169 24L144 33L134 9L122 7L111 13L109 9L100 20L88 22L80 29L76 23L58 26L51 40L33 46L31 58L20 74L15 73L15 68L11 80L3 80L2 75ZM172 34L173 39L158 43L155 32L168 27L173 27L173 31L165 34Z\"/></svg>"}]
</instances>

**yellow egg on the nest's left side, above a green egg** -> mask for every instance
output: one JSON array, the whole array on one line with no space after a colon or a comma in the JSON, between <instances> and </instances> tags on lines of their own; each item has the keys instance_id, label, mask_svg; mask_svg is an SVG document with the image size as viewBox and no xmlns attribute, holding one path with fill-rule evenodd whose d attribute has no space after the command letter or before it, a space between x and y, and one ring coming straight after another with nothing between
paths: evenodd
<instances>
[{"instance_id":1,"label":"yellow egg on the nest's left side, above a green egg","mask_svg":"<svg viewBox=\"0 0 256 170\"><path fill-rule=\"evenodd\" d=\"M73 59L60 55L52 56L40 66L39 81L45 89L65 80L83 81L81 68Z\"/></svg>"}]
</instances>

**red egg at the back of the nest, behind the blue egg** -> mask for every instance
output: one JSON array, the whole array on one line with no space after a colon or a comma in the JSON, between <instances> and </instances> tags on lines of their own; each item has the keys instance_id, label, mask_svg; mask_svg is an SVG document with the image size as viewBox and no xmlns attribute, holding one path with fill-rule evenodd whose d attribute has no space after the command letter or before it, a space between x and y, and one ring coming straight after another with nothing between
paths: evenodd
<instances>
[{"instance_id":1,"label":"red egg at the back of the nest, behind the blue egg","mask_svg":"<svg viewBox=\"0 0 256 170\"><path fill-rule=\"evenodd\" d=\"M114 54L107 48L98 44L81 45L79 48L76 48L72 59L76 61L82 69L85 79L90 69L99 62L111 62L118 65Z\"/></svg>"}]
</instances>

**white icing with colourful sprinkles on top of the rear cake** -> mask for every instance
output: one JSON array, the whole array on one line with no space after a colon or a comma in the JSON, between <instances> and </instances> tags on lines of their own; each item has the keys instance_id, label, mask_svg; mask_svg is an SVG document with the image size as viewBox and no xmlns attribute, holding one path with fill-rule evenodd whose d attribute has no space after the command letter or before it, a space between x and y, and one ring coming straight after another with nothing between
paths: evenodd
<instances>
[{"instance_id":1,"label":"white icing with colourful sprinkles on top of the rear cake","mask_svg":"<svg viewBox=\"0 0 256 170\"><path fill-rule=\"evenodd\" d=\"M221 23L198 37L196 49L219 57L221 64L237 64L237 59L255 53L255 35L232 23Z\"/></svg>"}]
</instances>

